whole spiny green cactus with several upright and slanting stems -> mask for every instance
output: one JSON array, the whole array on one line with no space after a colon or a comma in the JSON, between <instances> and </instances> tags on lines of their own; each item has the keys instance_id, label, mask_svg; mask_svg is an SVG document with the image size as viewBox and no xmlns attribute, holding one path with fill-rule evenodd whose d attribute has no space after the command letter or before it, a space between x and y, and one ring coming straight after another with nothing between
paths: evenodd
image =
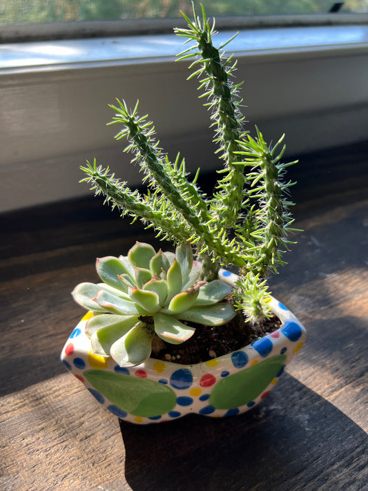
<instances>
[{"instance_id":1,"label":"whole spiny green cactus with several upright and slanting stems","mask_svg":"<svg viewBox=\"0 0 368 491\"><path fill-rule=\"evenodd\" d=\"M130 110L118 101L112 124L122 126L117 139L128 139L125 151L135 155L148 181L148 193L132 191L126 182L119 182L109 169L96 162L82 167L92 182L91 189L102 193L107 202L117 206L122 215L140 218L146 227L155 227L157 237L175 244L190 242L203 264L202 279L216 278L220 265L233 264L240 269L240 278L233 291L234 303L250 322L269 315L270 294L266 285L270 271L277 272L285 264L282 254L289 243L291 228L287 198L289 186L284 182L285 168L294 162L282 163L285 147L283 137L269 146L256 128L255 137L244 130L240 113L241 84L231 82L236 63L232 57L213 45L214 27L193 8L194 21L186 17L188 29L177 29L177 35L194 41L194 46L181 53L180 59L193 58L191 75L200 79L202 97L206 97L220 157L224 160L222 179L213 196L206 196L186 177L184 160L178 155L170 162L155 141L154 126L146 116L139 117L138 104ZM224 45L220 46L220 49Z\"/></svg>"}]
</instances>

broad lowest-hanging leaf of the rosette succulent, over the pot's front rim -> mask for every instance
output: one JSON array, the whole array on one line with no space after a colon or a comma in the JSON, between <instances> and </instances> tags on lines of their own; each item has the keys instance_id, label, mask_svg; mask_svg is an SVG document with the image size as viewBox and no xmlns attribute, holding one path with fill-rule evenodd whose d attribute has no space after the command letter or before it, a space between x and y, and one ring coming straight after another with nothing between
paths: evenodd
<instances>
[{"instance_id":1,"label":"broad lowest-hanging leaf of the rosette succulent, over the pot's front rim","mask_svg":"<svg viewBox=\"0 0 368 491\"><path fill-rule=\"evenodd\" d=\"M110 347L110 355L120 367L133 367L151 355L153 329L138 321L122 338Z\"/></svg>"}]
</instances>

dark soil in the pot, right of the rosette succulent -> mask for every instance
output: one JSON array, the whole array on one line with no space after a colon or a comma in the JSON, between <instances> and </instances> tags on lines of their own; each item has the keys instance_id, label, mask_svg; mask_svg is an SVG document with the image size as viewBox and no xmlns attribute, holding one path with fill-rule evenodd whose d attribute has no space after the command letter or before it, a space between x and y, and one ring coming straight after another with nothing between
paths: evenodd
<instances>
[{"instance_id":1,"label":"dark soil in the pot, right of the rosette succulent","mask_svg":"<svg viewBox=\"0 0 368 491\"><path fill-rule=\"evenodd\" d=\"M237 314L233 320L222 326L193 325L196 328L195 333L181 345L171 345L157 337L157 343L153 343L151 357L182 365L193 365L241 349L271 334L280 326L281 322L275 316L263 320L260 324L251 325L244 322L241 314Z\"/></svg>"}]
</instances>

